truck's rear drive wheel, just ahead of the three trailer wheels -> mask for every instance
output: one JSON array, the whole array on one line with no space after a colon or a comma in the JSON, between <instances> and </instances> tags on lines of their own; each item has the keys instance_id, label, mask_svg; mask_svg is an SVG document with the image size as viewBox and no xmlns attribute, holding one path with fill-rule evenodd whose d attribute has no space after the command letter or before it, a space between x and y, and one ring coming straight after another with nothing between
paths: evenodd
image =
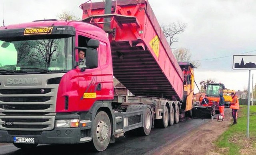
<instances>
[{"instance_id":1,"label":"truck's rear drive wheel, just ahead of the three trailer wheels","mask_svg":"<svg viewBox=\"0 0 256 155\"><path fill-rule=\"evenodd\" d=\"M138 132L140 135L149 135L152 127L152 113L149 108L144 111L144 127L140 127Z\"/></svg>"}]
</instances>

